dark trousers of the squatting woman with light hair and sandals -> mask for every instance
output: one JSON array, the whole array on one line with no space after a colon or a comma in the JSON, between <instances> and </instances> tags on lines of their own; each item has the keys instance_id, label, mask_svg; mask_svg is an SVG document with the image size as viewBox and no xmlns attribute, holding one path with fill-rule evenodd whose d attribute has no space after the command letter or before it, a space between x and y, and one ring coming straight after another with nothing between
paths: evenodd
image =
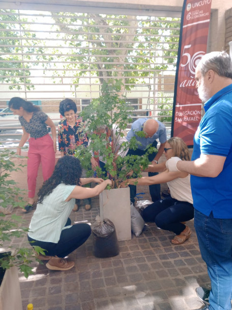
<instances>
[{"instance_id":1,"label":"dark trousers of the squatting woman with light hair and sandals","mask_svg":"<svg viewBox=\"0 0 232 310\"><path fill-rule=\"evenodd\" d=\"M146 222L155 222L159 228L180 235L186 227L181 222L194 217L194 208L189 202L167 197L149 204L143 210L142 217Z\"/></svg>"}]
</instances>

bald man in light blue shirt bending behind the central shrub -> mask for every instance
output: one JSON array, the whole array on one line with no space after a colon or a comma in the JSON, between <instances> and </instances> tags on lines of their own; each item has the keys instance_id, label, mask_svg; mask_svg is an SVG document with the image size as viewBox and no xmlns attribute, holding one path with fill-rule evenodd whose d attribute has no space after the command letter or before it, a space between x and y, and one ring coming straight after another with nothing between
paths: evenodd
<instances>
[{"instance_id":1,"label":"bald man in light blue shirt bending behind the central shrub","mask_svg":"<svg viewBox=\"0 0 232 310\"><path fill-rule=\"evenodd\" d=\"M136 134L137 132L143 131L145 134L144 138L138 137ZM158 149L158 152L154 152L152 154L149 154L149 161L152 162L152 164L158 164L158 160L160 159L165 143L167 141L167 135L166 135L166 128L163 123L161 123L158 120L150 119L150 118L139 118L136 121L133 122L131 125L131 130L129 131L126 139L127 141L130 141L132 137L136 137L136 140L140 143L138 143L138 148L136 150L129 149L128 155L138 155L142 156L146 153L146 147L149 144L152 144L152 146L157 147L157 139L159 139L160 147ZM158 174L158 172L149 172L149 176L153 176ZM134 197L136 196L136 186L135 185L129 185L130 187L130 198L131 202L134 203ZM160 197L160 184L154 184L149 186L150 195L152 198L152 201L159 200Z\"/></svg>"}]
</instances>

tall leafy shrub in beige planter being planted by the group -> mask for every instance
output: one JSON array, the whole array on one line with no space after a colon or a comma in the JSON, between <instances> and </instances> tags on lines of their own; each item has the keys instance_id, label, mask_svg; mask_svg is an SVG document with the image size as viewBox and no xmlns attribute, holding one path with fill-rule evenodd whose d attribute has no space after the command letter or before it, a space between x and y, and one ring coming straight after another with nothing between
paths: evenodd
<instances>
[{"instance_id":1,"label":"tall leafy shrub in beige planter being planted by the group","mask_svg":"<svg viewBox=\"0 0 232 310\"><path fill-rule=\"evenodd\" d=\"M100 217L102 220L109 218L114 223L119 241L131 239L129 188L120 189L120 185L130 171L140 177L142 169L147 168L149 164L147 155L126 155L129 147L137 148L138 142L135 137L130 142L122 142L128 124L132 121L132 108L122 95L122 89L124 88L121 80L104 82L100 97L93 99L80 113L86 122L90 142L88 148L79 146L75 153L82 167L88 171L88 176L95 173L98 177L112 179L111 190L106 189L100 194ZM106 130L99 133L101 126L105 126ZM144 133L140 132L139 135L143 136ZM148 153L153 151L154 147L150 146ZM92 169L93 158L96 161L100 158L104 166ZM106 170L107 176L103 169ZM119 198L122 198L122 201Z\"/></svg>"}]
</instances>

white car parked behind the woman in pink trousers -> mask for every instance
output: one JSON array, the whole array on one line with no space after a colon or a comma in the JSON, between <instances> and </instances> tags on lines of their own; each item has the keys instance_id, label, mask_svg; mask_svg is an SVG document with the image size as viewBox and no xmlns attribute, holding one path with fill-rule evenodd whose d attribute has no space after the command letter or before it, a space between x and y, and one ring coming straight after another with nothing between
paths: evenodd
<instances>
[{"instance_id":1,"label":"white car parked behind the woman in pink trousers","mask_svg":"<svg viewBox=\"0 0 232 310\"><path fill-rule=\"evenodd\" d=\"M63 118L60 113L47 112L46 114L52 119L55 126L57 126L61 118ZM21 128L21 124L18 120L18 115L13 115L10 108L3 109L3 111L0 112L0 132L19 128Z\"/></svg>"}]
</instances>

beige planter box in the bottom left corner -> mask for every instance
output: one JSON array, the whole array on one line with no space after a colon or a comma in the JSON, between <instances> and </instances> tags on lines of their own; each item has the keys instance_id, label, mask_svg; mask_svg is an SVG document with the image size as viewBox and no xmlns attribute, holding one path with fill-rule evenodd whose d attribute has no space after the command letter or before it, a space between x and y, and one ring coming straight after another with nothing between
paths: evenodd
<instances>
[{"instance_id":1,"label":"beige planter box in the bottom left corner","mask_svg":"<svg viewBox=\"0 0 232 310\"><path fill-rule=\"evenodd\" d=\"M18 280L18 269L7 269L0 286L0 310L22 310L22 299Z\"/></svg>"}]
</instances>

